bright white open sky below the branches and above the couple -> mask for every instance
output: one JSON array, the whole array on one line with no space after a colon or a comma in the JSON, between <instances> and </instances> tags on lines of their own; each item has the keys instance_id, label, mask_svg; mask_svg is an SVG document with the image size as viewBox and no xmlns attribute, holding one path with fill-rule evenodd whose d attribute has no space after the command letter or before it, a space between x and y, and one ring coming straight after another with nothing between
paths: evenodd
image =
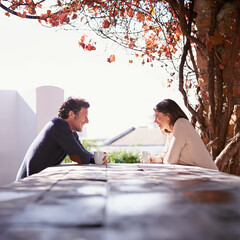
<instances>
[{"instance_id":1,"label":"bright white open sky below the branches and above the couple","mask_svg":"<svg viewBox=\"0 0 240 240\"><path fill-rule=\"evenodd\" d=\"M180 94L164 87L168 76L159 66L130 64L128 60L135 59L119 48L116 62L108 63L111 43L84 52L78 46L83 33L6 17L2 10L0 33L0 89L17 90L34 111L39 86L63 88L65 98L85 98L91 105L89 138L109 138L130 127L151 125L152 109L164 98L181 105Z\"/></svg>"}]
</instances>

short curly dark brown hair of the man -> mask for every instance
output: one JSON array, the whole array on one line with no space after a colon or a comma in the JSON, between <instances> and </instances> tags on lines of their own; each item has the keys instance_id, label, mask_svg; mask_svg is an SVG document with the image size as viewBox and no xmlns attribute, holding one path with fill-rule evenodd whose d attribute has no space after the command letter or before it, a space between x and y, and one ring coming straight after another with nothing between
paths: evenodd
<instances>
[{"instance_id":1,"label":"short curly dark brown hair of the man","mask_svg":"<svg viewBox=\"0 0 240 240\"><path fill-rule=\"evenodd\" d=\"M69 117L69 112L73 111L77 114L81 108L89 108L90 104L83 98L68 98L60 107L58 111L58 117L67 119Z\"/></svg>"}]
</instances>

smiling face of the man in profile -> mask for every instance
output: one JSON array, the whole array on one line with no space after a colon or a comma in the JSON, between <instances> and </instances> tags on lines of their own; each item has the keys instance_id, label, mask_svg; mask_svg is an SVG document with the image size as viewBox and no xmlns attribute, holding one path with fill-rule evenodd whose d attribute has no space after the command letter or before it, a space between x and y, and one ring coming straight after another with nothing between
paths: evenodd
<instances>
[{"instance_id":1,"label":"smiling face of the man in profile","mask_svg":"<svg viewBox=\"0 0 240 240\"><path fill-rule=\"evenodd\" d=\"M73 117L71 119L70 127L72 131L82 132L83 126L88 123L88 109L81 108L81 110L77 113L73 113Z\"/></svg>"}]
</instances>

